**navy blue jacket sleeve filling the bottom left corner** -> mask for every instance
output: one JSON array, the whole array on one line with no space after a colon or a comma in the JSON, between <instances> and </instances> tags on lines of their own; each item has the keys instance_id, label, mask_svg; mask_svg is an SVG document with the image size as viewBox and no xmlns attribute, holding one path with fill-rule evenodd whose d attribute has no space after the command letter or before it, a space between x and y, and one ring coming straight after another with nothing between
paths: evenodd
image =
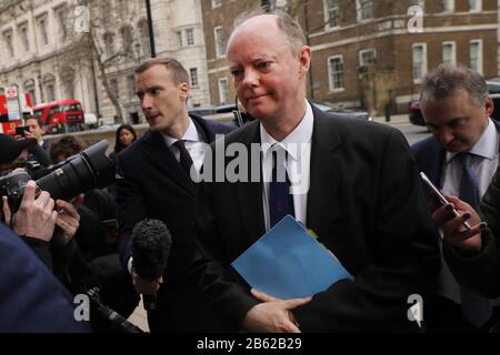
<instances>
[{"instance_id":1,"label":"navy blue jacket sleeve filling the bottom left corner","mask_svg":"<svg viewBox=\"0 0 500 355\"><path fill-rule=\"evenodd\" d=\"M0 332L89 332L73 300L19 236L0 223Z\"/></svg>"}]
</instances>

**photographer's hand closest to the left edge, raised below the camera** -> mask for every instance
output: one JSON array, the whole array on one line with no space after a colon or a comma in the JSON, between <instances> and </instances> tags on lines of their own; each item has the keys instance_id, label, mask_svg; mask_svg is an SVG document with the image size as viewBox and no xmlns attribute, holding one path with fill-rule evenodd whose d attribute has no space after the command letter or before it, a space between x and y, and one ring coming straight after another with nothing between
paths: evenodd
<instances>
[{"instance_id":1,"label":"photographer's hand closest to the left edge, raised below the camera","mask_svg":"<svg viewBox=\"0 0 500 355\"><path fill-rule=\"evenodd\" d=\"M31 236L49 242L52 239L58 212L50 194L42 191L36 199L37 184L29 181L24 187L19 211L13 215L13 231L18 235Z\"/></svg>"}]
</instances>

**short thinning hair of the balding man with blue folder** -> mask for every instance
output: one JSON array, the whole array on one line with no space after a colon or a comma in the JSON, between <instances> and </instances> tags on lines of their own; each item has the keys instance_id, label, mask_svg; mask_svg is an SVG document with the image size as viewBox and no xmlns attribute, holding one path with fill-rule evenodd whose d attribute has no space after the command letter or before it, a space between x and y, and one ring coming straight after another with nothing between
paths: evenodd
<instances>
[{"instance_id":1,"label":"short thinning hair of the balding man with blue folder","mask_svg":"<svg viewBox=\"0 0 500 355\"><path fill-rule=\"evenodd\" d=\"M274 14L277 17L278 28L284 34L292 52L298 52L303 45L307 44L306 36L303 34L299 22L297 22L290 14L279 9L268 12L264 8L259 8L257 10L241 13L234 20L233 32L244 21L262 14Z\"/></svg>"}]
</instances>

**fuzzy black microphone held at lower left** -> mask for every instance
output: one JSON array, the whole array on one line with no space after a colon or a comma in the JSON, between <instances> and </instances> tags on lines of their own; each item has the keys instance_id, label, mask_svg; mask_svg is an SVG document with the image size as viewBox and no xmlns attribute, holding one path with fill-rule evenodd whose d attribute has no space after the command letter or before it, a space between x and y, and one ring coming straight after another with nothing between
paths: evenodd
<instances>
[{"instance_id":1,"label":"fuzzy black microphone held at lower left","mask_svg":"<svg viewBox=\"0 0 500 355\"><path fill-rule=\"evenodd\" d=\"M143 220L136 224L130 245L134 273L149 281L160 277L167 267L171 245L172 236L163 222ZM142 296L144 310L156 310L157 293Z\"/></svg>"}]
</instances>

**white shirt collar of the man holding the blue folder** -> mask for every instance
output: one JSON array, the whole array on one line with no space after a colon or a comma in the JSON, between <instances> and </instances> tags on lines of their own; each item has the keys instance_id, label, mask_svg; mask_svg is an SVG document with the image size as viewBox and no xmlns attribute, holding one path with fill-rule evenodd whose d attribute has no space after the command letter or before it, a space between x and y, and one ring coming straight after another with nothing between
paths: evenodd
<instances>
[{"instance_id":1,"label":"white shirt collar of the man holding the blue folder","mask_svg":"<svg viewBox=\"0 0 500 355\"><path fill-rule=\"evenodd\" d=\"M299 125L281 142L274 140L268 133L268 131L266 131L266 128L262 125L262 123L260 123L260 142L262 146L263 156L267 156L268 152L270 151L270 148L274 143L278 143L287 151L287 153L292 159L298 160L300 158L300 154L303 153L306 144L311 142L312 128L313 128L312 108L307 100L306 100L306 114L303 115Z\"/></svg>"}]
</instances>

